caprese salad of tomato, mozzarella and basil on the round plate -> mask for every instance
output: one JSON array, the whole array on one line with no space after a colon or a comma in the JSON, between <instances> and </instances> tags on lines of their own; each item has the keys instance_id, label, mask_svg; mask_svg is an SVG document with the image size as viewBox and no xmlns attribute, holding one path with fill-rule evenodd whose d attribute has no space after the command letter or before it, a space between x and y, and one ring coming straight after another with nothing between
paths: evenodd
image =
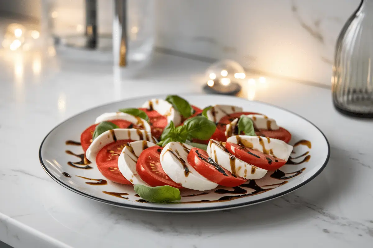
<instances>
[{"instance_id":1,"label":"caprese salad of tomato, mozzarella and basil on the round plate","mask_svg":"<svg viewBox=\"0 0 373 248\"><path fill-rule=\"evenodd\" d=\"M81 134L85 156L148 202L180 200L180 189L235 187L280 168L293 147L274 119L239 106L200 109L169 95L97 117Z\"/></svg>"}]
</instances>

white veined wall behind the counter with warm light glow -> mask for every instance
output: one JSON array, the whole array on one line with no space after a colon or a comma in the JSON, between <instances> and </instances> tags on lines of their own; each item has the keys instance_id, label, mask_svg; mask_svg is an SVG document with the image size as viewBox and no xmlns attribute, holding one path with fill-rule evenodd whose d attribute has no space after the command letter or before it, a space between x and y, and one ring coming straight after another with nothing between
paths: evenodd
<instances>
[{"instance_id":1,"label":"white veined wall behind the counter with warm light glow","mask_svg":"<svg viewBox=\"0 0 373 248\"><path fill-rule=\"evenodd\" d=\"M0 0L0 8L40 15L40 1ZM336 38L360 0L154 0L156 45L246 68L330 84ZM83 3L83 0L75 0ZM112 1L98 0L111 27ZM78 4L79 5L79 4ZM78 18L70 15L69 19Z\"/></svg>"}]
</instances>

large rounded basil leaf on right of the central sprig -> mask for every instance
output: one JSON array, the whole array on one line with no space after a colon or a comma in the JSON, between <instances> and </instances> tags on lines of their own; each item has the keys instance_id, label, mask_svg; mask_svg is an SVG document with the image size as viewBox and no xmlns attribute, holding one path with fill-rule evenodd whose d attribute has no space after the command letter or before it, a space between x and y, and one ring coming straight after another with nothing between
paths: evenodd
<instances>
[{"instance_id":1,"label":"large rounded basil leaf on right of the central sprig","mask_svg":"<svg viewBox=\"0 0 373 248\"><path fill-rule=\"evenodd\" d=\"M185 132L195 139L207 140L216 130L215 123L204 116L194 116L184 122Z\"/></svg>"}]
</instances>

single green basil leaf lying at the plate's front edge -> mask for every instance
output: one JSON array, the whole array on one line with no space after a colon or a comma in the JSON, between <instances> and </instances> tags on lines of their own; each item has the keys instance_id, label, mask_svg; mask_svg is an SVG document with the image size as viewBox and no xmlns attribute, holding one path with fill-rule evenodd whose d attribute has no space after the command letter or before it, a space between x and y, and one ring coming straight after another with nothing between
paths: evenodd
<instances>
[{"instance_id":1,"label":"single green basil leaf lying at the plate's front edge","mask_svg":"<svg viewBox=\"0 0 373 248\"><path fill-rule=\"evenodd\" d=\"M147 187L136 184L134 190L142 199L148 202L169 203L181 199L180 190L169 185Z\"/></svg>"}]
</instances>

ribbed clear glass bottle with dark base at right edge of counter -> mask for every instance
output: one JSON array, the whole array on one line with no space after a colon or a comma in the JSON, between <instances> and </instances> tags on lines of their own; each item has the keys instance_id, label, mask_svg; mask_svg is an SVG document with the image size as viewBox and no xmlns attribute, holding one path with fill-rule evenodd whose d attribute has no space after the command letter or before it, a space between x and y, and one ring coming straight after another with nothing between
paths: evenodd
<instances>
[{"instance_id":1,"label":"ribbed clear glass bottle with dark base at right edge of counter","mask_svg":"<svg viewBox=\"0 0 373 248\"><path fill-rule=\"evenodd\" d=\"M361 0L339 34L332 77L340 112L373 118L373 0Z\"/></svg>"}]
</instances>

